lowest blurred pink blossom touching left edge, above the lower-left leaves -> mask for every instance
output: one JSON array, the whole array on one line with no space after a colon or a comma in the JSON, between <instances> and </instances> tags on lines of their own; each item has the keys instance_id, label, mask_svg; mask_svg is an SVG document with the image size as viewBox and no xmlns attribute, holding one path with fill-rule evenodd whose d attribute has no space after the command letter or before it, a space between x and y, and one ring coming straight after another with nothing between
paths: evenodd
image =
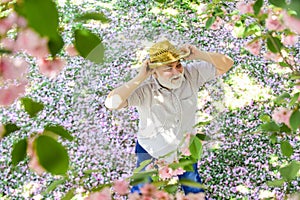
<instances>
[{"instance_id":1,"label":"lowest blurred pink blossom touching left edge, above the lower-left leaves","mask_svg":"<svg viewBox=\"0 0 300 200\"><path fill-rule=\"evenodd\" d=\"M9 106L17 98L24 95L27 82L22 82L19 85L10 85L8 88L0 89L0 105Z\"/></svg>"}]
</instances>

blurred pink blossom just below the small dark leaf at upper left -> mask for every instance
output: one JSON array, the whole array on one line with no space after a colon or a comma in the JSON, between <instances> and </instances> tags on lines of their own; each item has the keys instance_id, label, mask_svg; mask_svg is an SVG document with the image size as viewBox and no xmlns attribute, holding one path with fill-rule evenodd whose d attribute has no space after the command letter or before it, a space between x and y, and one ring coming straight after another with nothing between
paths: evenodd
<instances>
[{"instance_id":1,"label":"blurred pink blossom just below the small dark leaf at upper left","mask_svg":"<svg viewBox=\"0 0 300 200\"><path fill-rule=\"evenodd\" d=\"M55 58L54 60L39 59L37 64L41 74L54 78L60 73L66 62L60 58Z\"/></svg>"}]
</instances>

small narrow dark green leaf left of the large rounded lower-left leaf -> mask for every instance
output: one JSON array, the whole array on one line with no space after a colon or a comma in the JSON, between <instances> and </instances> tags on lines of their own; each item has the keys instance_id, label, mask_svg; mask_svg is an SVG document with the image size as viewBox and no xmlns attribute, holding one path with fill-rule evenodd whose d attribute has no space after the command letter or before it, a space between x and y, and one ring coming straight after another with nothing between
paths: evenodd
<instances>
[{"instance_id":1,"label":"small narrow dark green leaf left of the large rounded lower-left leaf","mask_svg":"<svg viewBox=\"0 0 300 200\"><path fill-rule=\"evenodd\" d=\"M22 139L18 143L14 144L11 152L11 160L14 166L25 159L27 150L27 139Z\"/></svg>"}]
</instances>

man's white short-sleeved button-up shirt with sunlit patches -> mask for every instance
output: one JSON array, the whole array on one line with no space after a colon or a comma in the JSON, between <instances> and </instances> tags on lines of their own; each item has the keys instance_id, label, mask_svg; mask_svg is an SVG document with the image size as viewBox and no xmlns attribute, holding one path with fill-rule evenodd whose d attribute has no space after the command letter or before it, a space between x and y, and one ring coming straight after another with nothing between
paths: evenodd
<instances>
[{"instance_id":1,"label":"man's white short-sleeved button-up shirt with sunlit patches","mask_svg":"<svg viewBox=\"0 0 300 200\"><path fill-rule=\"evenodd\" d=\"M185 133L195 132L198 90L215 77L216 69L211 63L192 62L185 67L179 88L168 90L151 78L131 94L128 106L137 106L139 112L137 138L151 156L168 154L164 159L174 160Z\"/></svg>"}]
</instances>

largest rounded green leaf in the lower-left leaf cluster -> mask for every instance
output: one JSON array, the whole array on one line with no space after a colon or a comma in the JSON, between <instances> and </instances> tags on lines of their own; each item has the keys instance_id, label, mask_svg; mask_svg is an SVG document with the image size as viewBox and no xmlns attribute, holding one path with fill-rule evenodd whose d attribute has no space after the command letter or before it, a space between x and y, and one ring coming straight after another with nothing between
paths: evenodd
<instances>
[{"instance_id":1,"label":"largest rounded green leaf in the lower-left leaf cluster","mask_svg":"<svg viewBox=\"0 0 300 200\"><path fill-rule=\"evenodd\" d=\"M63 175L69 168L67 150L53 138L40 135L34 141L39 163L53 175Z\"/></svg>"}]
</instances>

